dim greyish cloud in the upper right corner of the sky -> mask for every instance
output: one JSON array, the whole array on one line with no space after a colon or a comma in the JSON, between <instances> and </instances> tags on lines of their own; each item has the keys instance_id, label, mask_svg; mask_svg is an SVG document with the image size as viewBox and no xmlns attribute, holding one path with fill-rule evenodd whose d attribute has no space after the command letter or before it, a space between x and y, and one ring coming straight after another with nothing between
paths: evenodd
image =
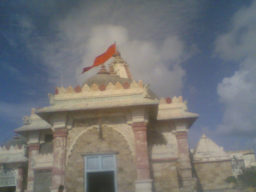
<instances>
[{"instance_id":1,"label":"dim greyish cloud in the upper right corner of the sky","mask_svg":"<svg viewBox=\"0 0 256 192\"><path fill-rule=\"evenodd\" d=\"M231 29L216 38L215 54L225 60L241 60L256 55L256 1L233 16Z\"/></svg>"}]
</instances>

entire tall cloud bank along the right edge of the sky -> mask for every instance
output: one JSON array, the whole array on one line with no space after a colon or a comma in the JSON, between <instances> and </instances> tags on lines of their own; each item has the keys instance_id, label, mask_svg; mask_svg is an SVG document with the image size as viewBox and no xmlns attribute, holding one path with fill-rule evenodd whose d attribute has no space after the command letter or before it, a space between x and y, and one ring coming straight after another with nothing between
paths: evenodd
<instances>
[{"instance_id":1,"label":"entire tall cloud bank along the right edge of the sky","mask_svg":"<svg viewBox=\"0 0 256 192\"><path fill-rule=\"evenodd\" d=\"M224 106L219 134L238 138L238 145L254 147L256 124L256 1L233 16L231 29L217 37L215 56L225 61L239 62L233 76L223 78L217 94ZM244 142L247 140L247 142Z\"/></svg>"}]
</instances>

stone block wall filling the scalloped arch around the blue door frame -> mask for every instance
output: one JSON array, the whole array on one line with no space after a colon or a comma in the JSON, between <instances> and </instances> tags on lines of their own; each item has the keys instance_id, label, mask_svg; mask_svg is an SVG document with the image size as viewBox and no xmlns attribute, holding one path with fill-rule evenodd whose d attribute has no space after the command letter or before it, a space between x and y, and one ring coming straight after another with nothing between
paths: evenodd
<instances>
[{"instance_id":1,"label":"stone block wall filling the scalloped arch around the blue door frame","mask_svg":"<svg viewBox=\"0 0 256 192\"><path fill-rule=\"evenodd\" d=\"M67 191L84 191L83 155L108 153L116 153L118 191L135 191L136 168L130 146L121 133L106 125L101 131L92 127L77 138L67 159Z\"/></svg>"}]
</instances>

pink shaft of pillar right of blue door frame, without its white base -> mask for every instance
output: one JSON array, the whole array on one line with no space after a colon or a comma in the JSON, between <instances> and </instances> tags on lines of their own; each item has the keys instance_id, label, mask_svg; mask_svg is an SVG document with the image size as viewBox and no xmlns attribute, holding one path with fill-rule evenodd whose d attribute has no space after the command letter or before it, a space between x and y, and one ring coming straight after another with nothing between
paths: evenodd
<instances>
[{"instance_id":1,"label":"pink shaft of pillar right of blue door frame, without its white base","mask_svg":"<svg viewBox=\"0 0 256 192\"><path fill-rule=\"evenodd\" d=\"M137 180L150 179L147 152L147 124L132 124L132 128L135 138Z\"/></svg>"}]
</instances>

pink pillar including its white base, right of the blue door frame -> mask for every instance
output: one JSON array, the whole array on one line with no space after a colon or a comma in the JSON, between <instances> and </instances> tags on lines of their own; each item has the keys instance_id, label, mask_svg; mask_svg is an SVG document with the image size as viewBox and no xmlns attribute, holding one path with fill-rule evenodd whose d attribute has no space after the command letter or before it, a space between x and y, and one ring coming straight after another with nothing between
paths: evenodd
<instances>
[{"instance_id":1,"label":"pink pillar including its white base, right of the blue door frame","mask_svg":"<svg viewBox=\"0 0 256 192\"><path fill-rule=\"evenodd\" d=\"M135 150L136 150L136 170L137 181L135 183L136 191L152 191L152 179L150 179L150 170L147 151L147 124L132 124Z\"/></svg>"}]
</instances>

